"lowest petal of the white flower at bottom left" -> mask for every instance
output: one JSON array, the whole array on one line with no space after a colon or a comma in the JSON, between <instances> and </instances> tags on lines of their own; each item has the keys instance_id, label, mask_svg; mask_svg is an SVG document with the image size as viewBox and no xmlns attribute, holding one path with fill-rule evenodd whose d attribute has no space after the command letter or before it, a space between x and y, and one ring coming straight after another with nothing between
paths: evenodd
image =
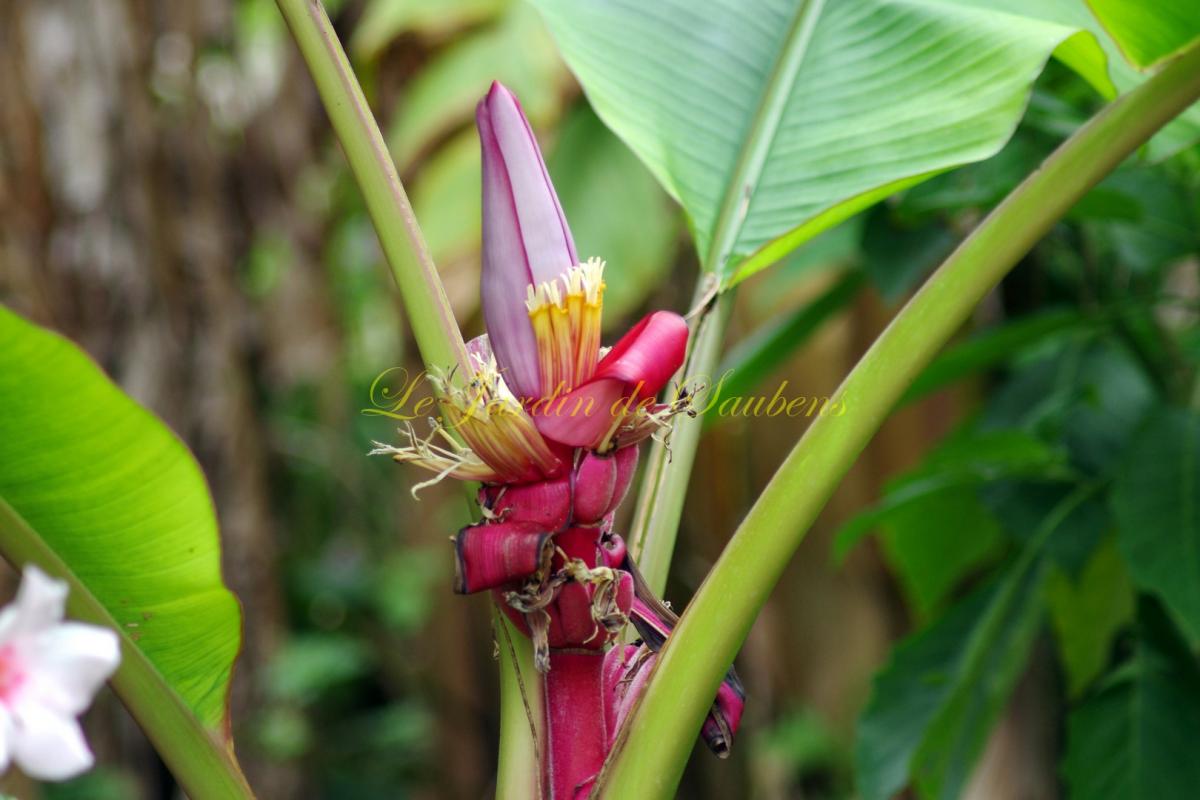
<instances>
[{"instance_id":1,"label":"lowest petal of the white flower at bottom left","mask_svg":"<svg viewBox=\"0 0 1200 800\"><path fill-rule=\"evenodd\" d=\"M37 703L19 703L13 718L13 760L30 777L65 781L91 768L91 750L73 716Z\"/></svg>"}]
</instances>

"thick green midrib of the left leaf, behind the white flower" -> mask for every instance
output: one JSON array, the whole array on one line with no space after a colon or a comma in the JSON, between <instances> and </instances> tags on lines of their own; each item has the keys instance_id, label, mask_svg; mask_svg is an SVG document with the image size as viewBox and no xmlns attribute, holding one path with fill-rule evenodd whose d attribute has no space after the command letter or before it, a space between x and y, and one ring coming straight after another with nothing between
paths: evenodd
<instances>
[{"instance_id":1,"label":"thick green midrib of the left leaf, behind the white flower","mask_svg":"<svg viewBox=\"0 0 1200 800\"><path fill-rule=\"evenodd\" d=\"M112 678L113 688L187 796L196 800L254 796L234 758L228 730L222 736L221 732L209 730L200 723L196 712L130 638L127 628L113 619L66 561L2 499L0 553L18 570L32 563L48 575L66 581L71 588L67 615L107 627L120 637L121 666Z\"/></svg>"}]
</instances>

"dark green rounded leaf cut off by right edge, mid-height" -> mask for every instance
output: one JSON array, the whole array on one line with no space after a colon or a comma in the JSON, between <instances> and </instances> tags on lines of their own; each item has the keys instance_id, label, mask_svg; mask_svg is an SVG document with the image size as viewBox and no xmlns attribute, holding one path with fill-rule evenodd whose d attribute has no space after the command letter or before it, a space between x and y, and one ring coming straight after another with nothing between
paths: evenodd
<instances>
[{"instance_id":1,"label":"dark green rounded leaf cut off by right edge, mid-height","mask_svg":"<svg viewBox=\"0 0 1200 800\"><path fill-rule=\"evenodd\" d=\"M1200 638L1200 415L1153 413L1117 475L1112 512L1133 582Z\"/></svg>"}]
</instances>

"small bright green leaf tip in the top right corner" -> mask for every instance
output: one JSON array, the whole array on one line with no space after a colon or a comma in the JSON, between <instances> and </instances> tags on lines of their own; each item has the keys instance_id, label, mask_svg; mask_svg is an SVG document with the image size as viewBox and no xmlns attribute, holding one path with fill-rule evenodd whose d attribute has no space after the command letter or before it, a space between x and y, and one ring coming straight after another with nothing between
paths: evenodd
<instances>
[{"instance_id":1,"label":"small bright green leaf tip in the top right corner","mask_svg":"<svg viewBox=\"0 0 1200 800\"><path fill-rule=\"evenodd\" d=\"M1195 0L1087 0L1092 13L1138 68L1152 67L1200 38Z\"/></svg>"}]
</instances>

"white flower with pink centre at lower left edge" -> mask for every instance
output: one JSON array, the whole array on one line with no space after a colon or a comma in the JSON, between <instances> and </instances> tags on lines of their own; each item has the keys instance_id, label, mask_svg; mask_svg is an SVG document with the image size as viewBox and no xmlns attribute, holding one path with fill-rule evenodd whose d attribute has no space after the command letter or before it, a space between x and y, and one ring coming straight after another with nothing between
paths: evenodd
<instances>
[{"instance_id":1,"label":"white flower with pink centre at lower left edge","mask_svg":"<svg viewBox=\"0 0 1200 800\"><path fill-rule=\"evenodd\" d=\"M116 633L64 622L67 584L25 567L16 601L0 610L0 772L64 781L88 770L91 750L76 717L121 660Z\"/></svg>"}]
</instances>

